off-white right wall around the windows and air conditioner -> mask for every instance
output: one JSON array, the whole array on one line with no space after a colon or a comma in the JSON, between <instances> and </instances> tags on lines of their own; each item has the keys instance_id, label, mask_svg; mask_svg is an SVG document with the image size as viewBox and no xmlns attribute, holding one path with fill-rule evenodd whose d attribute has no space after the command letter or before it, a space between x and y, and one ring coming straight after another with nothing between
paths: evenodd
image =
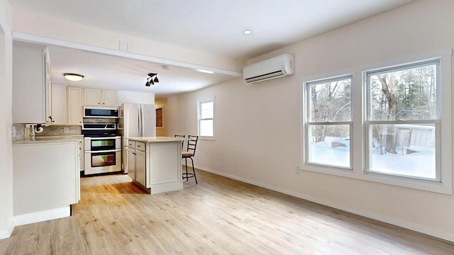
<instances>
[{"instance_id":1,"label":"off-white right wall around the windows and air conditioner","mask_svg":"<svg viewBox=\"0 0 454 255\"><path fill-rule=\"evenodd\" d=\"M295 174L301 81L452 48L453 9L450 0L415 1L258 57L294 53L296 72L258 84L236 79L168 98L168 135L196 134L197 98L216 96L216 141L199 142L196 167L454 241L453 196L310 171Z\"/></svg>"}]
</instances>

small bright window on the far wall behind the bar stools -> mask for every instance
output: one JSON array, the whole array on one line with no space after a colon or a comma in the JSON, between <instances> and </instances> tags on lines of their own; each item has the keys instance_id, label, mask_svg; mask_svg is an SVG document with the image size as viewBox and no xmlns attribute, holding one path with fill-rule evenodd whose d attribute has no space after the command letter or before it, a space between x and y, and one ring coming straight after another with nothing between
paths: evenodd
<instances>
[{"instance_id":1,"label":"small bright window on the far wall behind the bar stools","mask_svg":"<svg viewBox=\"0 0 454 255\"><path fill-rule=\"evenodd\" d=\"M214 139L214 98L197 102L199 137Z\"/></svg>"}]
</instances>

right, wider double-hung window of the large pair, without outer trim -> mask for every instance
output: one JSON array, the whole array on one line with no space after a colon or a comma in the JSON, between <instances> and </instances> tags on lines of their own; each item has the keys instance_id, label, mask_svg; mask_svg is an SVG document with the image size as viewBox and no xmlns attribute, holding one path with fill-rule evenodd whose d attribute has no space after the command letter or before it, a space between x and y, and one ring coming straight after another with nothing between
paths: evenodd
<instances>
[{"instance_id":1,"label":"right, wider double-hung window of the large pair, without outer trim","mask_svg":"<svg viewBox=\"0 0 454 255\"><path fill-rule=\"evenodd\" d=\"M440 60L366 72L366 171L440 181Z\"/></svg>"}]
</instances>

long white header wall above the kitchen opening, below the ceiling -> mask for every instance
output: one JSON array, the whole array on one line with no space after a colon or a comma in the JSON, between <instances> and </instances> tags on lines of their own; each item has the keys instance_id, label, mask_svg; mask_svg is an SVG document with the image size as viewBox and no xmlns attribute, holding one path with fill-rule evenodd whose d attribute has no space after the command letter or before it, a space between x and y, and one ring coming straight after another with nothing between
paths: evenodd
<instances>
[{"instance_id":1,"label":"long white header wall above the kitchen opening, below the ceiling","mask_svg":"<svg viewBox=\"0 0 454 255\"><path fill-rule=\"evenodd\" d=\"M133 53L139 55L242 72L239 63L243 63L243 61L235 60L231 57L209 54L207 52L200 52L174 45L165 45L141 38L134 38L128 35L121 35L99 28L72 23L70 21L21 11L15 8L13 8L11 12L14 32L38 35L45 38L68 42L77 42L82 45L102 47L110 50L118 50L119 42L122 40L131 42L134 45Z\"/></svg>"}]
</instances>

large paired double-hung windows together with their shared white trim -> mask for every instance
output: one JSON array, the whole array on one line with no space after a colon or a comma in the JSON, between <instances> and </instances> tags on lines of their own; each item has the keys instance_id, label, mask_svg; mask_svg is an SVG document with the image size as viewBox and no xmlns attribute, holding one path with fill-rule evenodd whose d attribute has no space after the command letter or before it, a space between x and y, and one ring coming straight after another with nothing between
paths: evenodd
<instances>
[{"instance_id":1,"label":"large paired double-hung windows together with their shared white trim","mask_svg":"<svg viewBox=\"0 0 454 255\"><path fill-rule=\"evenodd\" d=\"M303 82L301 169L453 194L451 54Z\"/></svg>"}]
</instances>

